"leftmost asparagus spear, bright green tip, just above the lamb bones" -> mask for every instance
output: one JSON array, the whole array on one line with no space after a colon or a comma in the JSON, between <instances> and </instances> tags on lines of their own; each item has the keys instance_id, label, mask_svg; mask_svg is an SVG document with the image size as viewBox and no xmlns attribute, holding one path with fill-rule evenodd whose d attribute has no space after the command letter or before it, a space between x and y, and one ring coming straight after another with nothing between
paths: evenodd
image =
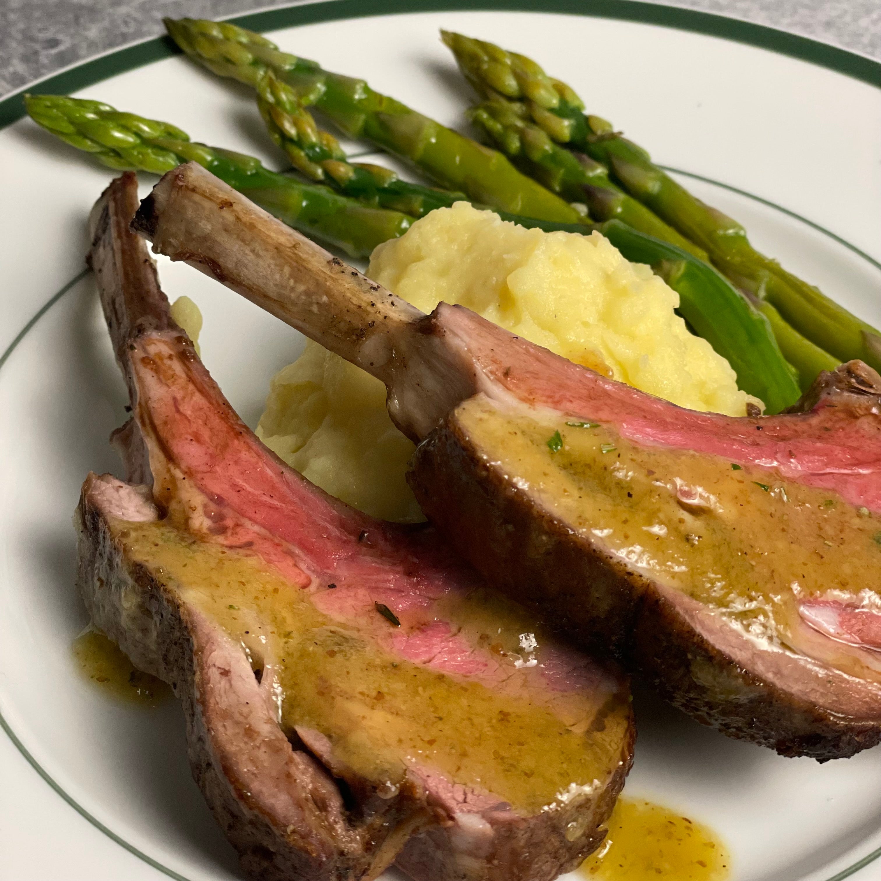
<instances>
[{"instance_id":1,"label":"leftmost asparagus spear, bright green tip, just above the lamb bones","mask_svg":"<svg viewBox=\"0 0 881 881\"><path fill-rule=\"evenodd\" d=\"M399 211L371 208L327 187L294 181L253 156L193 143L174 125L121 113L100 101L26 95L25 106L44 129L111 168L165 174L181 162L196 161L289 226L352 256L370 255L412 222Z\"/></svg>"}]
</instances>

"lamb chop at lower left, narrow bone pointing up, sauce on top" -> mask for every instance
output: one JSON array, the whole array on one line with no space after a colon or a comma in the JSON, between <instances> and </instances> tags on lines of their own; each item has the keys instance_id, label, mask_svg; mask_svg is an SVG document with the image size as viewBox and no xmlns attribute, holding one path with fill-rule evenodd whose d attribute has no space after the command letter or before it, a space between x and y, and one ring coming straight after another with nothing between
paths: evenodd
<instances>
[{"instance_id":1,"label":"lamb chop at lower left, narrow bone pointing up, sauce on top","mask_svg":"<svg viewBox=\"0 0 881 881\"><path fill-rule=\"evenodd\" d=\"M193 774L261 879L550 881L603 838L626 682L548 638L432 528L352 510L235 415L171 320L137 181L90 262L129 387L130 479L90 474L78 587L181 699Z\"/></svg>"}]
</instances>

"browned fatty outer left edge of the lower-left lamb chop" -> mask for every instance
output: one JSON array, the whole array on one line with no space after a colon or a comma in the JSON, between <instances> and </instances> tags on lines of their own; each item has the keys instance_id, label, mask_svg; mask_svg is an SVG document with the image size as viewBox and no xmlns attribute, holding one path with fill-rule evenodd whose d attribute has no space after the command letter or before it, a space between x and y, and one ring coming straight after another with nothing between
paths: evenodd
<instances>
[{"instance_id":1,"label":"browned fatty outer left edge of the lower-left lamb chop","mask_svg":"<svg viewBox=\"0 0 881 881\"><path fill-rule=\"evenodd\" d=\"M241 647L126 552L108 521L155 520L144 487L90 474L77 509L80 596L93 623L139 669L172 685L187 722L193 777L239 852L242 868L271 881L376 877L427 825L424 794L404 791L353 824L336 781L292 749ZM416 826L418 828L418 825Z\"/></svg>"}]
</instances>

